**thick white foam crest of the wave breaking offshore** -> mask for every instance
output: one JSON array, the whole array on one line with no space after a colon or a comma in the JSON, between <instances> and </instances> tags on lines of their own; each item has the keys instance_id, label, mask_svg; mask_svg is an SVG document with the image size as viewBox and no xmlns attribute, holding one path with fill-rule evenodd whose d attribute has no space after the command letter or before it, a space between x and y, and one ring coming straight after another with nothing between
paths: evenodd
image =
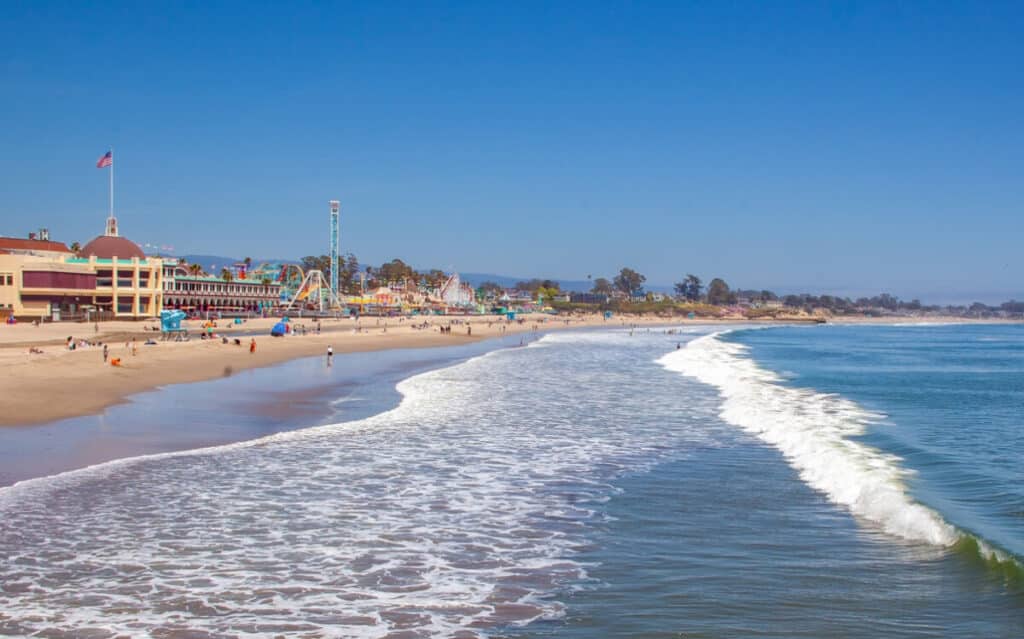
<instances>
[{"instance_id":1,"label":"thick white foam crest of the wave breaking offshore","mask_svg":"<svg viewBox=\"0 0 1024 639\"><path fill-rule=\"evenodd\" d=\"M792 388L759 367L741 344L697 338L658 364L718 388L721 417L778 449L800 476L836 504L907 540L951 546L957 530L914 502L899 458L853 437L880 419L835 394Z\"/></svg>"}]
</instances>

